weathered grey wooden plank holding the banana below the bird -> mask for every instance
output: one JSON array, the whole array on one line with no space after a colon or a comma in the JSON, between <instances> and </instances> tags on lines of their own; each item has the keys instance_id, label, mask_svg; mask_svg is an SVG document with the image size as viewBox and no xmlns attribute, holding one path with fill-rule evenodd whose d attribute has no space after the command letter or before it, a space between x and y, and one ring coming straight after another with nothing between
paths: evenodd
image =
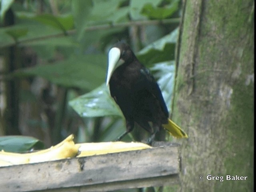
<instances>
[{"instance_id":1,"label":"weathered grey wooden plank holding the banana below the bird","mask_svg":"<svg viewBox=\"0 0 256 192\"><path fill-rule=\"evenodd\" d=\"M176 175L173 181L177 182L179 170L178 145L165 142L145 150L2 167L0 191L104 191L104 186L111 190L133 188L143 182L150 186L152 178L160 178L152 185L161 185L165 176ZM96 190L100 185L103 188Z\"/></svg>"}]
</instances>

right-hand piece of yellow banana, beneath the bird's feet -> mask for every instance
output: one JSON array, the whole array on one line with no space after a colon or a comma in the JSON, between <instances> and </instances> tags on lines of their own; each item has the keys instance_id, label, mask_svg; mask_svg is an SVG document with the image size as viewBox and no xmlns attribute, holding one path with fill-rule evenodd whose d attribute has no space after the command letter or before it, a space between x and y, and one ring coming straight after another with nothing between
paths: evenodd
<instances>
[{"instance_id":1,"label":"right-hand piece of yellow banana, beneath the bird's feet","mask_svg":"<svg viewBox=\"0 0 256 192\"><path fill-rule=\"evenodd\" d=\"M79 146L80 154L77 157L85 157L92 155L101 155L107 153L117 153L132 150L141 150L151 148L151 146L140 143L140 142L100 142L100 143L80 143L76 144Z\"/></svg>"}]
</instances>

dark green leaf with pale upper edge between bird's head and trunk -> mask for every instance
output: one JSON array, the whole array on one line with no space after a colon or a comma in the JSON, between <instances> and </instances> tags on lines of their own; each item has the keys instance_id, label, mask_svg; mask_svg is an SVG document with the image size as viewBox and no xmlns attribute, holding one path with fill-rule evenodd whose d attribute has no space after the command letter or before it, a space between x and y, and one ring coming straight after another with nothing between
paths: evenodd
<instances>
[{"instance_id":1,"label":"dark green leaf with pale upper edge between bird's head and trunk","mask_svg":"<svg viewBox=\"0 0 256 192\"><path fill-rule=\"evenodd\" d=\"M154 63L174 60L178 28L163 38L143 48L136 56L145 66Z\"/></svg>"}]
</instances>

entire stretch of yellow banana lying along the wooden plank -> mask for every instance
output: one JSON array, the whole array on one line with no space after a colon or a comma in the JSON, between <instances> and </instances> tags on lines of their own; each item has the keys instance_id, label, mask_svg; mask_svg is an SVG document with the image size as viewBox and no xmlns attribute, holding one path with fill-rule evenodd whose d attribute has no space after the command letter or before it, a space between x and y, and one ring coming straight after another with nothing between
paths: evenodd
<instances>
[{"instance_id":1,"label":"entire stretch of yellow banana lying along the wooden plank","mask_svg":"<svg viewBox=\"0 0 256 192\"><path fill-rule=\"evenodd\" d=\"M71 134L55 146L45 150L40 150L38 152L26 154L4 152L2 150L0 151L0 167L151 148L151 146L140 142L100 142L75 144L73 139L74 135Z\"/></svg>"}]
</instances>

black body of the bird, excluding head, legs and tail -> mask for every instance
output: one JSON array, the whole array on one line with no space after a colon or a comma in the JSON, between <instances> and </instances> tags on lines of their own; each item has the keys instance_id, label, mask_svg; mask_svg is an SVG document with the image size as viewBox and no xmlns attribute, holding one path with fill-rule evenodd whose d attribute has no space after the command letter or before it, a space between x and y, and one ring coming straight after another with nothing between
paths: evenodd
<instances>
[{"instance_id":1,"label":"black body of the bird, excluding head, legs and tail","mask_svg":"<svg viewBox=\"0 0 256 192\"><path fill-rule=\"evenodd\" d=\"M168 111L158 84L139 62L119 66L109 86L126 120L133 120L146 130L148 122L160 125L166 122Z\"/></svg>"}]
</instances>

